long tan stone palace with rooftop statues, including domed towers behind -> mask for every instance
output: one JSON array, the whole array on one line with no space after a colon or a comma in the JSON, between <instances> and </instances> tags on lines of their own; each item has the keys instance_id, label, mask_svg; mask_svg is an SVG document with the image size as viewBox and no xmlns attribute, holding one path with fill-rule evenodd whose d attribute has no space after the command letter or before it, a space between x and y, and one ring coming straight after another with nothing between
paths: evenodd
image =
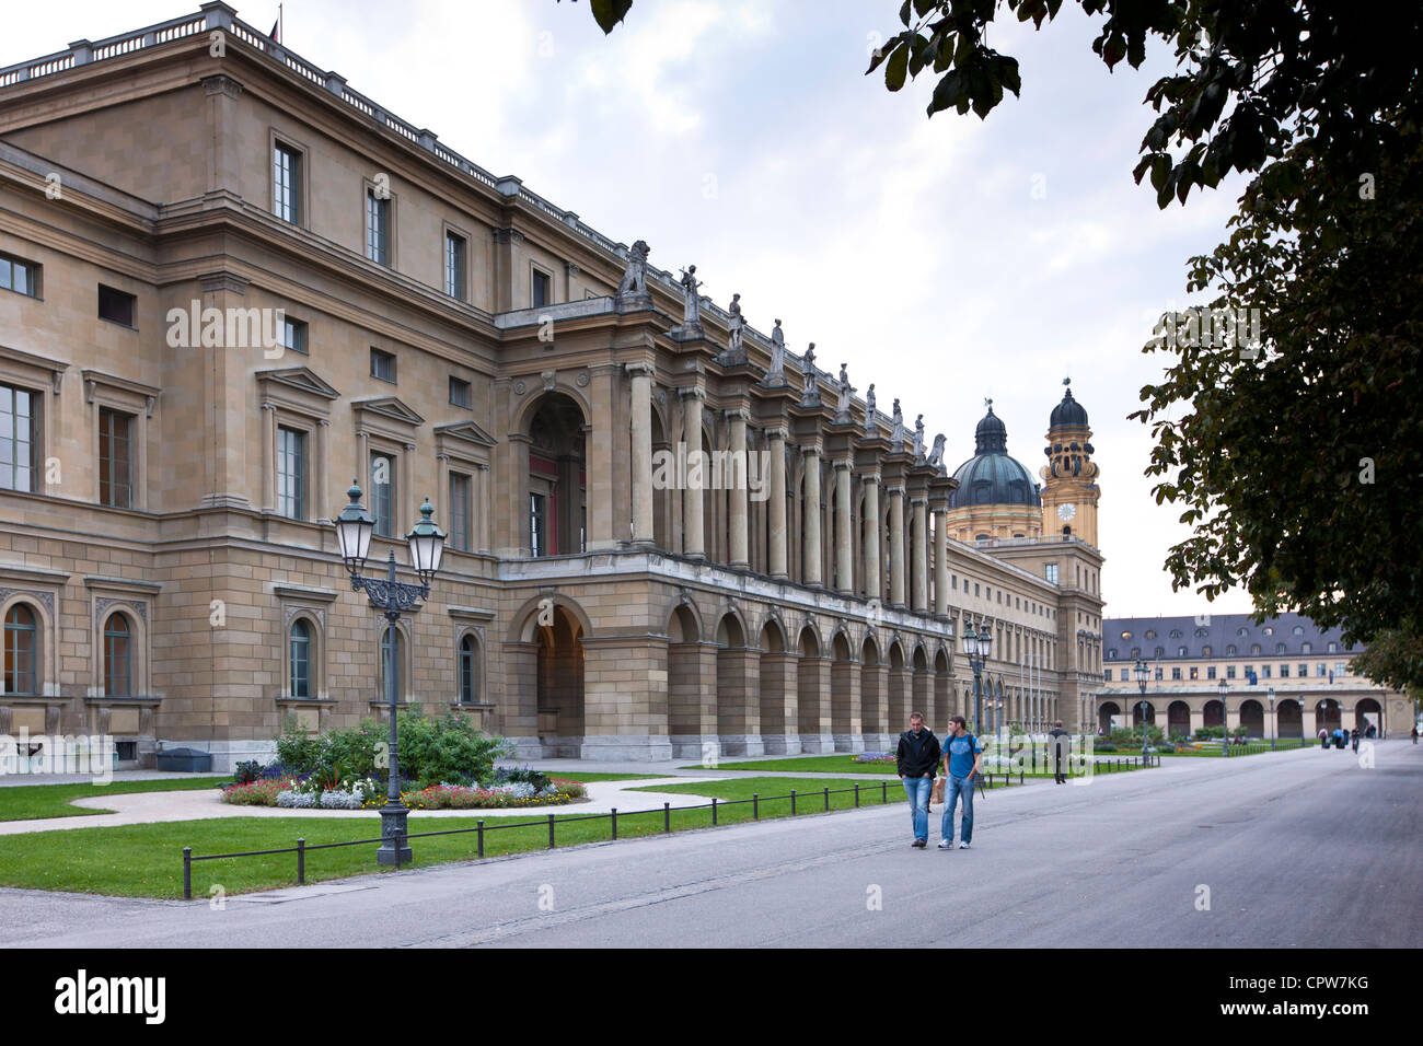
<instances>
[{"instance_id":1,"label":"long tan stone palace with rooftop statues, including domed towers behind","mask_svg":"<svg viewBox=\"0 0 1423 1046\"><path fill-rule=\"evenodd\" d=\"M381 714L388 655L522 756L852 751L972 714L969 622L999 722L1090 722L1072 393L1042 485L992 410L949 474L694 279L222 3L0 68L0 733L223 768ZM396 629L353 475L370 569L448 534Z\"/></svg>"}]
</instances>

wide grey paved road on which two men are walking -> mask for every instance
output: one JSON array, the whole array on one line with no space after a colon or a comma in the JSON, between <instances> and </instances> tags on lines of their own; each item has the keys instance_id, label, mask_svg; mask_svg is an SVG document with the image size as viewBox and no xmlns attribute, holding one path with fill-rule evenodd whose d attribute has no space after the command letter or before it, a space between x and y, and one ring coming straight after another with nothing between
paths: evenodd
<instances>
[{"instance_id":1,"label":"wide grey paved road on which two men are walking","mask_svg":"<svg viewBox=\"0 0 1423 1046\"><path fill-rule=\"evenodd\" d=\"M1375 753L1372 768L1306 749L993 791L970 851L911 850L901 805L319 884L223 911L0 891L0 946L1419 946L1423 747Z\"/></svg>"}]
</instances>

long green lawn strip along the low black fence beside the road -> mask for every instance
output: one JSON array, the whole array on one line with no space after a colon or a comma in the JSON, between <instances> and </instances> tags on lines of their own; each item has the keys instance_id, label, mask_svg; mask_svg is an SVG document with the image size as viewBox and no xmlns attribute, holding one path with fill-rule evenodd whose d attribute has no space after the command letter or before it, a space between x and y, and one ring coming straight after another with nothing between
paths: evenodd
<instances>
[{"instance_id":1,"label":"long green lawn strip along the low black fence beside the road","mask_svg":"<svg viewBox=\"0 0 1423 1046\"><path fill-rule=\"evenodd\" d=\"M824 808L820 788L825 786L851 787L851 781L824 778L739 778L710 784L669 786L669 788L687 793L687 805L696 803L694 796L697 794L734 798L744 791L744 797L750 798L753 791L784 796L790 788L797 788L797 791L804 788L814 794L807 794L804 801L798 801L797 811L815 813ZM887 788L885 793L891 803L904 801L904 790L896 784ZM878 803L878 787L871 786L861 790L862 805ZM832 810L852 805L852 796L831 796ZM761 817L784 817L787 814L790 814L788 800L768 801L760 808ZM751 818L750 803L721 807L717 811L717 824L736 824ZM418 813L411 813L410 828L411 834L472 828L477 820L477 817L421 817ZM499 824L519 827L495 828ZM672 813L673 831L710 825L710 810ZM618 815L619 838L655 835L662 831L662 810ZM582 820L576 813L555 815L555 837L559 845L603 841L609 838L609 833L606 817ZM27 833L23 840L10 840L7 845L0 847L0 885L117 897L181 898L184 847L192 847L194 857L201 857L203 854L293 847L299 837L305 838L309 847L314 847L320 842L373 840L379 835L380 820L374 811L369 820L231 817ZM306 854L307 882L376 872L376 845L371 842L363 847L309 850ZM474 833L411 838L410 845L416 855L414 867L470 861L478 852L478 838ZM527 818L485 820L487 857L545 848L548 848L546 811L531 808ZM195 861L192 865L194 899L206 898L212 885L222 885L228 894L296 885L296 854Z\"/></svg>"}]
</instances>

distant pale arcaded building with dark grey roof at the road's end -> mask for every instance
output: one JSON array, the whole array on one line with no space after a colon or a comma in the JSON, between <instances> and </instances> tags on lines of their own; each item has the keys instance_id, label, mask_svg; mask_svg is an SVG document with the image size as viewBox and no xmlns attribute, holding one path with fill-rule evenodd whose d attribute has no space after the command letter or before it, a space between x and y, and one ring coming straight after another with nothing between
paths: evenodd
<instances>
[{"instance_id":1,"label":"distant pale arcaded building with dark grey roof at the road's end","mask_svg":"<svg viewBox=\"0 0 1423 1046\"><path fill-rule=\"evenodd\" d=\"M1312 737L1321 727L1406 734L1413 703L1350 670L1363 648L1339 629L1286 613L1257 625L1247 613L1109 618L1097 690L1100 729L1137 727L1143 714L1168 734L1208 726L1251 737ZM1146 662L1147 692L1133 669ZM1221 683L1225 685L1224 692Z\"/></svg>"}]
</instances>

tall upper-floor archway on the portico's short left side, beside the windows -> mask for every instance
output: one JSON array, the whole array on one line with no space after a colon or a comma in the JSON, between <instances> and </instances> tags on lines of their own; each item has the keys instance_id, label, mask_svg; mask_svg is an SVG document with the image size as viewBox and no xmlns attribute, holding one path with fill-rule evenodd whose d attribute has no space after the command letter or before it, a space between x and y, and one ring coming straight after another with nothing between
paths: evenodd
<instances>
[{"instance_id":1,"label":"tall upper-floor archway on the portico's short left side, beside the windows","mask_svg":"<svg viewBox=\"0 0 1423 1046\"><path fill-rule=\"evenodd\" d=\"M583 411L564 393L548 393L529 418L528 437L524 537L529 555L582 552L588 527Z\"/></svg>"}]
</instances>

